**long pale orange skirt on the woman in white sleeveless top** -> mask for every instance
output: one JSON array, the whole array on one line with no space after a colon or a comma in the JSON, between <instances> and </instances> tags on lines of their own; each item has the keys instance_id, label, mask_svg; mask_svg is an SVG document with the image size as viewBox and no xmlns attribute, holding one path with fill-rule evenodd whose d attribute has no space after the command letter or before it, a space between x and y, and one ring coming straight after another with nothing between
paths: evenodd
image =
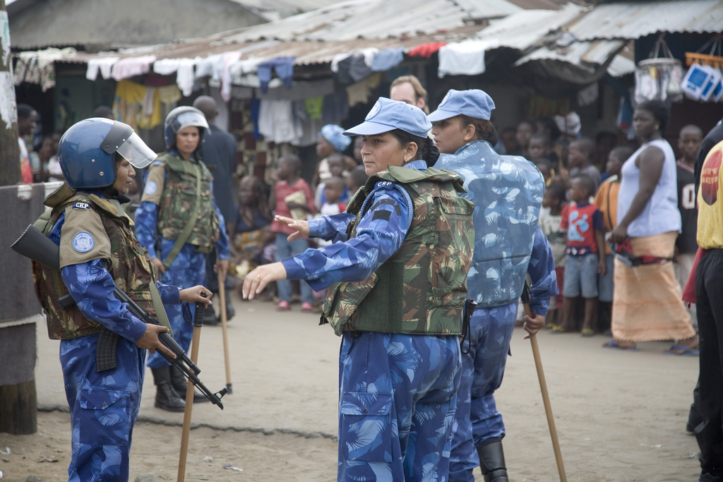
<instances>
[{"instance_id":1,"label":"long pale orange skirt on the woman in white sleeveless top","mask_svg":"<svg viewBox=\"0 0 723 482\"><path fill-rule=\"evenodd\" d=\"M672 258L677 231L630 238L633 254ZM672 262L628 267L615 259L612 336L620 341L685 340L696 334Z\"/></svg>"}]
</instances>

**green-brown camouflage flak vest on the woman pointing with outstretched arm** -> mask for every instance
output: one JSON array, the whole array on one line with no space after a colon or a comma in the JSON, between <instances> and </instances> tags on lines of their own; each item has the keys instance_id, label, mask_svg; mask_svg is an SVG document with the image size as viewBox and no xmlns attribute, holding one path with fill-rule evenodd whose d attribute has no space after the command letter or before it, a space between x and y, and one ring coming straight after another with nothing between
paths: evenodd
<instances>
[{"instance_id":1,"label":"green-brown camouflage flak vest on the woman pointing with outstretched arm","mask_svg":"<svg viewBox=\"0 0 723 482\"><path fill-rule=\"evenodd\" d=\"M356 215L351 237L378 181L406 189L414 203L411 226L401 248L371 276L330 290L325 319L337 335L347 330L460 335L474 246L474 205L458 197L461 178L435 168L396 167L370 176L347 209Z\"/></svg>"}]
</instances>

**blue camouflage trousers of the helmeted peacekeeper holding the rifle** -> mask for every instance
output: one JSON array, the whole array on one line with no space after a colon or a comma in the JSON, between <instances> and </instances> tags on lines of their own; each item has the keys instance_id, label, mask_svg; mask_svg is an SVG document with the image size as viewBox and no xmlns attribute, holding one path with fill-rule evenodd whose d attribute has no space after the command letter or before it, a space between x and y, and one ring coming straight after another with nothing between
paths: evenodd
<instances>
[{"instance_id":1,"label":"blue camouflage trousers of the helmeted peacekeeper holding the rifle","mask_svg":"<svg viewBox=\"0 0 723 482\"><path fill-rule=\"evenodd\" d=\"M98 335L61 340L60 363L72 424L68 480L127 481L145 350L121 337L115 369L95 371Z\"/></svg>"}]
</instances>

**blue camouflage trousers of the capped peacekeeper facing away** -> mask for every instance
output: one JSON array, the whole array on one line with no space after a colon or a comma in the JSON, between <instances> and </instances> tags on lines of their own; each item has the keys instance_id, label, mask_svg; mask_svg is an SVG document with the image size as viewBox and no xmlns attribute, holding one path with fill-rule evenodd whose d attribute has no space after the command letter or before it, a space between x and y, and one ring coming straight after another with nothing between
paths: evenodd
<instances>
[{"instance_id":1,"label":"blue camouflage trousers of the capped peacekeeper facing away","mask_svg":"<svg viewBox=\"0 0 723 482\"><path fill-rule=\"evenodd\" d=\"M462 381L452 429L450 482L474 481L479 465L476 447L505 436L505 423L495 405L510 350L517 303L478 308L470 320L469 353L462 355ZM464 350L468 348L464 341Z\"/></svg>"}]
</instances>

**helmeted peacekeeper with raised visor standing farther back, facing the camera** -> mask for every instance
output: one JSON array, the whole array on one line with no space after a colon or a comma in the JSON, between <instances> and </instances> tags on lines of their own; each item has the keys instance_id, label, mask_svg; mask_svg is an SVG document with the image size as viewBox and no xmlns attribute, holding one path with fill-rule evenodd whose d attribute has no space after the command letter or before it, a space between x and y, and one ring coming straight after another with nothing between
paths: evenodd
<instances>
[{"instance_id":1,"label":"helmeted peacekeeper with raised visor standing farther back, facing the camera","mask_svg":"<svg viewBox=\"0 0 723 482\"><path fill-rule=\"evenodd\" d=\"M138 240L148 250L150 262L161 272L163 283L188 287L205 280L206 255L215 246L216 269L226 277L228 236L221 210L213 197L213 176L200 159L208 122L194 107L178 107L168 113L163 129L166 152L150 166L141 204L135 214ZM174 338L188 350L193 335L191 323L184 322L180 306L168 306ZM194 305L189 304L191 316ZM148 358L156 385L155 406L182 412L181 397L186 379L158 353ZM194 402L208 399L200 392Z\"/></svg>"}]
</instances>

